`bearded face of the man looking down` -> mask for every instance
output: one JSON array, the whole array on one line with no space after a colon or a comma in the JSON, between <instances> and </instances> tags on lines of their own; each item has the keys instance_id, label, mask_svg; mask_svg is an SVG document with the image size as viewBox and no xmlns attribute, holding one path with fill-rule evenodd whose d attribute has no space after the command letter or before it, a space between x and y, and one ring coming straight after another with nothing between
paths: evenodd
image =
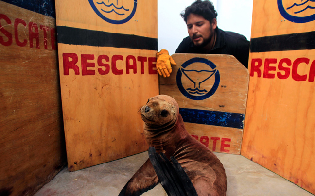
<instances>
[{"instance_id":1,"label":"bearded face of the man looking down","mask_svg":"<svg viewBox=\"0 0 315 196\"><path fill-rule=\"evenodd\" d=\"M211 42L215 28L209 20L200 15L190 14L187 16L186 24L189 37L194 46L203 48Z\"/></svg>"}]
</instances>

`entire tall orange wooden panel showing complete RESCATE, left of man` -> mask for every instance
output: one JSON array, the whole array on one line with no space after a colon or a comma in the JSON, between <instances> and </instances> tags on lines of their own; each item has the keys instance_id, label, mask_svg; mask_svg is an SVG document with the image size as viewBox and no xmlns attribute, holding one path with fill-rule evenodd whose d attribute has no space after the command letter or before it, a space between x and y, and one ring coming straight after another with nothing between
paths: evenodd
<instances>
[{"instance_id":1,"label":"entire tall orange wooden panel showing complete RESCATE, left of man","mask_svg":"<svg viewBox=\"0 0 315 196\"><path fill-rule=\"evenodd\" d=\"M157 1L56 0L56 15L69 170L148 150L137 111L158 94Z\"/></svg>"}]
</instances>

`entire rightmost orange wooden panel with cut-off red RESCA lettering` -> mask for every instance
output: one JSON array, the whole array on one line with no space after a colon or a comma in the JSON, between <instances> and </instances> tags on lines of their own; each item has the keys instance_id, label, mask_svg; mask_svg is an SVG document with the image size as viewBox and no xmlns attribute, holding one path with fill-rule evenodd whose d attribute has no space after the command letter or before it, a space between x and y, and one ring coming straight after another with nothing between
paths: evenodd
<instances>
[{"instance_id":1,"label":"entire rightmost orange wooden panel with cut-off red RESCA lettering","mask_svg":"<svg viewBox=\"0 0 315 196\"><path fill-rule=\"evenodd\" d=\"M282 1L278 0L278 5L283 3L285 8L294 5L293 1ZM310 2L296 1L301 5L292 9L301 11ZM278 5L272 0L254 0L241 154L314 194L314 9L292 19L291 8L284 15Z\"/></svg>"}]
</instances>

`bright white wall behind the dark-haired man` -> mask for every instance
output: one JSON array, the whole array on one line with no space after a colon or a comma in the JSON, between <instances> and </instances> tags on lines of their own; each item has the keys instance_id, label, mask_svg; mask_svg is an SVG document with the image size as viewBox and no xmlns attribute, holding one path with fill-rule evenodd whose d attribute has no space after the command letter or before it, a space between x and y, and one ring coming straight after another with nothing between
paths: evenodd
<instances>
[{"instance_id":1,"label":"bright white wall behind the dark-haired man","mask_svg":"<svg viewBox=\"0 0 315 196\"><path fill-rule=\"evenodd\" d=\"M157 0L158 51L174 54L183 38L188 36L180 13L195 0ZM212 0L218 12L218 27L245 35L250 40L253 0Z\"/></svg>"}]
</instances>

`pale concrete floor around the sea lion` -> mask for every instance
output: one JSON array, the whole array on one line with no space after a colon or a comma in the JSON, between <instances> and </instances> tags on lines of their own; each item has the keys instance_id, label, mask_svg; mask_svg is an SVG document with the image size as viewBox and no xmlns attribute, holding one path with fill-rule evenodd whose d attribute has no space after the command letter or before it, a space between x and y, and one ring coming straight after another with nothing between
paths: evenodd
<instances>
[{"instance_id":1,"label":"pale concrete floor around the sea lion","mask_svg":"<svg viewBox=\"0 0 315 196\"><path fill-rule=\"evenodd\" d=\"M215 153L227 174L227 196L313 196L241 155ZM35 196L117 196L148 159L148 152L68 172L65 167ZM167 196L158 184L142 196Z\"/></svg>"}]
</instances>

